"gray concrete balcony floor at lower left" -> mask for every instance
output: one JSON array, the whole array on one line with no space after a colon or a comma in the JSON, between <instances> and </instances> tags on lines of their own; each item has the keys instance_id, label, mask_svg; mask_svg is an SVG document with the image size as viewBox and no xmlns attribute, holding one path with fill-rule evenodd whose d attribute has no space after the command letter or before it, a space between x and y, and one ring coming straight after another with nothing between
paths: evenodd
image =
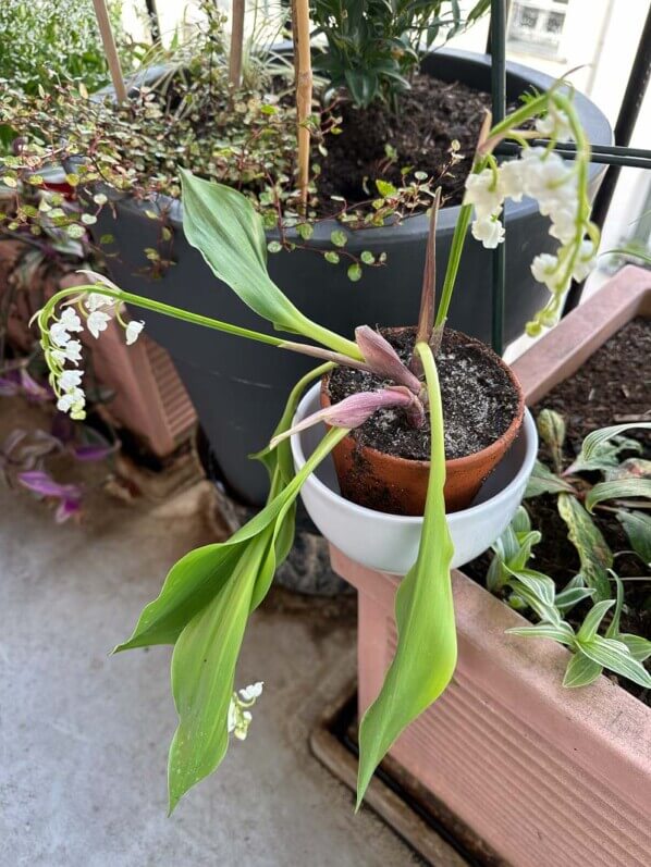
<instances>
[{"instance_id":1,"label":"gray concrete balcony floor at lower left","mask_svg":"<svg viewBox=\"0 0 651 867\"><path fill-rule=\"evenodd\" d=\"M1 437L15 426L7 406ZM241 659L238 683L266 681L248 740L165 817L170 651L108 653L174 560L214 541L206 486L158 506L98 493L81 527L0 487L0 865L417 863L370 809L354 815L308 750L355 674L353 606L282 591L254 615Z\"/></svg>"}]
</instances>

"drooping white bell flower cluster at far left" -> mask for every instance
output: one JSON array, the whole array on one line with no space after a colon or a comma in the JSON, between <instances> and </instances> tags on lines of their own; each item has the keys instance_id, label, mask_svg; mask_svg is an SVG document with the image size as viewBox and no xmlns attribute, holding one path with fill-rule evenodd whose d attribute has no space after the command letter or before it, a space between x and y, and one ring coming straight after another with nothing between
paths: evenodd
<instances>
[{"instance_id":1,"label":"drooping white bell flower cluster at far left","mask_svg":"<svg viewBox=\"0 0 651 867\"><path fill-rule=\"evenodd\" d=\"M127 345L136 342L145 324L124 322L116 309L115 298L101 292L89 293L83 301L79 300L78 311L65 307L60 317L49 325L47 335L42 336L46 360L50 368L50 383L57 395L57 409L70 412L73 419L86 417L86 395L82 388L84 371L65 368L69 361L78 367L82 358L82 344L73 337L84 331L82 317L90 334L97 338L115 315L125 330Z\"/></svg>"}]
</instances>

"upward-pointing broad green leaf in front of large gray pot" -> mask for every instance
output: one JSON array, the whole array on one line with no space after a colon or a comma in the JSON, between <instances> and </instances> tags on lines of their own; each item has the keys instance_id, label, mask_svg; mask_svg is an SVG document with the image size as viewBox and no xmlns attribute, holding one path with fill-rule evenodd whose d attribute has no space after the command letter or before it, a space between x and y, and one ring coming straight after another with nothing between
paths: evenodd
<instances>
[{"instance_id":1,"label":"upward-pointing broad green leaf in front of large gray pot","mask_svg":"<svg viewBox=\"0 0 651 867\"><path fill-rule=\"evenodd\" d=\"M267 272L262 218L237 190L180 170L183 231L221 281L258 315L284 331L303 334L337 352L360 359L353 340L311 322Z\"/></svg>"}]
</instances>

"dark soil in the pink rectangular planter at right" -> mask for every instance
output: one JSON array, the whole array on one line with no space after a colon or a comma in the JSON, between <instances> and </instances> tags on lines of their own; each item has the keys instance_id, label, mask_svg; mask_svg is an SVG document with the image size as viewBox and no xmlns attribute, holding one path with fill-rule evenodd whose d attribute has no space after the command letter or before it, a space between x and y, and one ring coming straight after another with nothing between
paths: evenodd
<instances>
[{"instance_id":1,"label":"dark soil in the pink rectangular planter at right","mask_svg":"<svg viewBox=\"0 0 651 867\"><path fill-rule=\"evenodd\" d=\"M638 318L625 325L569 379L531 408L535 417L542 409L553 409L565 419L567 437L564 447L566 466L579 453L584 438L600 428L611 424L649 421L651 409L651 381L640 370L640 363L651 358L651 320ZM651 459L651 434L644 430L630 430L627 437L638 439L643 447L635 457ZM546 446L541 443L540 458L550 463ZM631 453L634 456L634 453ZM622 458L627 457L626 454ZM598 481L594 475L594 481ZM567 525L558 515L556 498L544 494L525 500L531 517L531 527L542 533L542 541L533 548L533 568L552 578L558 590L580 570L576 548L567 537ZM610 548L617 553L615 570L624 583L622 632L632 632L651 640L651 579L641 560L627 554L630 543L622 524L611 511L597 509L593 518ZM464 567L464 572L481 584L491 556L486 554ZM626 579L636 578L631 581ZM569 623L578 629L592 603L584 602L567 614ZM526 616L526 612L525 612ZM607 616L610 617L610 616ZM607 623L609 620L605 622ZM651 706L651 696L642 686L625 678L609 673L623 689Z\"/></svg>"}]
</instances>

